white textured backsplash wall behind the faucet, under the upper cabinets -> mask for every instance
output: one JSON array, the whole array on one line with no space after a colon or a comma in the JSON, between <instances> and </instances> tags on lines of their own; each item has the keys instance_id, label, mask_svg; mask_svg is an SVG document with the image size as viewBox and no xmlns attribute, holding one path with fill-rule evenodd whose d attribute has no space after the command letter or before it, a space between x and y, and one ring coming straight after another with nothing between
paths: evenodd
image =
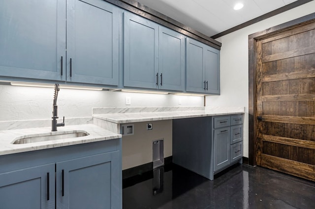
<instances>
[{"instance_id":1,"label":"white textured backsplash wall behind the faucet, under the upper cabinets","mask_svg":"<svg viewBox=\"0 0 315 209\"><path fill-rule=\"evenodd\" d=\"M50 119L53 95L53 88L0 85L0 121ZM57 104L59 117L73 118L91 117L92 107L203 106L203 97L61 89Z\"/></svg>"}]
</instances>

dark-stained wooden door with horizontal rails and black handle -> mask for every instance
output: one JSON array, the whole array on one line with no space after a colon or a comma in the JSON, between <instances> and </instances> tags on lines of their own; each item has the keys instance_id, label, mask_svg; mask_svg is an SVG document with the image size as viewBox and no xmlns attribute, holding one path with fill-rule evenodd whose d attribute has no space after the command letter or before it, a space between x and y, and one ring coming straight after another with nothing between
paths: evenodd
<instances>
[{"instance_id":1,"label":"dark-stained wooden door with horizontal rails and black handle","mask_svg":"<svg viewBox=\"0 0 315 209\"><path fill-rule=\"evenodd\" d=\"M256 41L256 164L315 181L315 23Z\"/></svg>"}]
</instances>

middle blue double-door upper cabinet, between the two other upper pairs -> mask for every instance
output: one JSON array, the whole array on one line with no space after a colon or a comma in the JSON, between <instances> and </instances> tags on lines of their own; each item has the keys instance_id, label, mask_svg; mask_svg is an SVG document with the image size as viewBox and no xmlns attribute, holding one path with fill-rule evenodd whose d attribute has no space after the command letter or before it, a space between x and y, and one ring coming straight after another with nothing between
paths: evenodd
<instances>
[{"instance_id":1,"label":"middle blue double-door upper cabinet, between the two other upper pairs","mask_svg":"<svg viewBox=\"0 0 315 209\"><path fill-rule=\"evenodd\" d=\"M124 86L185 90L184 35L124 13Z\"/></svg>"}]
</instances>

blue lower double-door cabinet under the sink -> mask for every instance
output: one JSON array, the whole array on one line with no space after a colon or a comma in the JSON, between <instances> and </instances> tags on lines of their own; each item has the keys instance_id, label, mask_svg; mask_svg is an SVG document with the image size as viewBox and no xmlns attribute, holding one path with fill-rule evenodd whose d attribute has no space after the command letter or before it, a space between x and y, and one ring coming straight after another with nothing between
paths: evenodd
<instances>
[{"instance_id":1,"label":"blue lower double-door cabinet under the sink","mask_svg":"<svg viewBox=\"0 0 315 209\"><path fill-rule=\"evenodd\" d=\"M0 156L0 208L121 209L121 139Z\"/></svg>"}]
</instances>

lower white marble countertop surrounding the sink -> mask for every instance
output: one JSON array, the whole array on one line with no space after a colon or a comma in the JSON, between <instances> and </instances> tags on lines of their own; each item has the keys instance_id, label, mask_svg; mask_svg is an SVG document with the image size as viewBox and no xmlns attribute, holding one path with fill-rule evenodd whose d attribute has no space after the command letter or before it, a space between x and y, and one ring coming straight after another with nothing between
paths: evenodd
<instances>
[{"instance_id":1,"label":"lower white marble countertop surrounding the sink","mask_svg":"<svg viewBox=\"0 0 315 209\"><path fill-rule=\"evenodd\" d=\"M19 139L23 136L38 136L42 133L62 134L71 131L84 131L88 132L89 135L77 138L56 139L51 141L42 141L26 144L13 144L13 142L16 139ZM89 142L116 139L121 137L122 137L121 134L114 133L106 129L102 129L93 124L58 127L58 131L53 132L51 131L51 127L0 131L0 155L42 150L75 144L83 144Z\"/></svg>"}]
</instances>

